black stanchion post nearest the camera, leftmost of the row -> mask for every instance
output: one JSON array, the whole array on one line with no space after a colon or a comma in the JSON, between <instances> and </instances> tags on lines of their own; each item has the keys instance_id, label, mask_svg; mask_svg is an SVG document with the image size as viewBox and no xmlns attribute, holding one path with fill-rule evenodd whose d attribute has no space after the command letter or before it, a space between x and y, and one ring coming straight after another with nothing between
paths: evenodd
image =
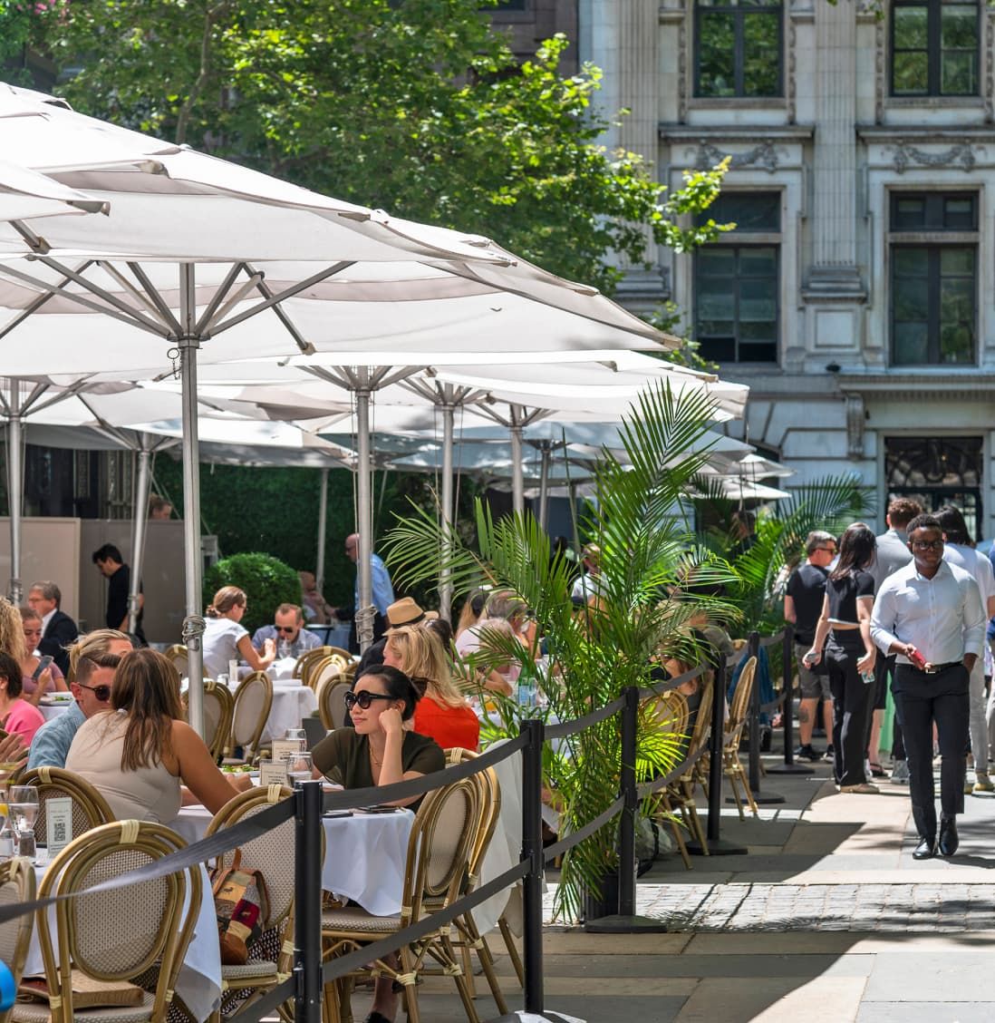
<instances>
[{"instance_id":1,"label":"black stanchion post nearest the camera, leftmost of the row","mask_svg":"<svg viewBox=\"0 0 995 1023\"><path fill-rule=\"evenodd\" d=\"M293 799L293 1018L321 1023L321 783L300 784Z\"/></svg>"}]
</instances>

